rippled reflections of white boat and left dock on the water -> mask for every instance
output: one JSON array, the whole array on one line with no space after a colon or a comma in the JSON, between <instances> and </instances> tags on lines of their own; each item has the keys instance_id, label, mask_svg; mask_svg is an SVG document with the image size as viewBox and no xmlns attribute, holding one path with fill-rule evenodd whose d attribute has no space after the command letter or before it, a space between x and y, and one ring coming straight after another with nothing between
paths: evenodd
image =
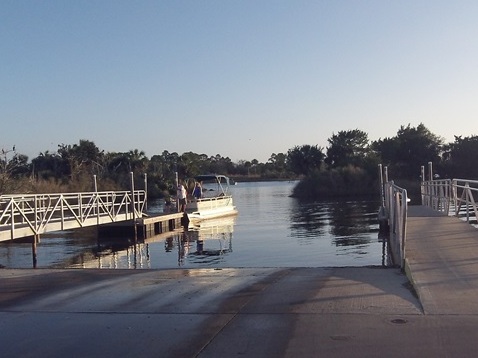
<instances>
[{"instance_id":1,"label":"rippled reflections of white boat and left dock on the water","mask_svg":"<svg viewBox=\"0 0 478 358\"><path fill-rule=\"evenodd\" d=\"M75 268L150 269L208 267L232 252L236 215L203 220L188 230L156 235L134 243L131 239L100 239L89 254L76 257Z\"/></svg>"}]
</instances>

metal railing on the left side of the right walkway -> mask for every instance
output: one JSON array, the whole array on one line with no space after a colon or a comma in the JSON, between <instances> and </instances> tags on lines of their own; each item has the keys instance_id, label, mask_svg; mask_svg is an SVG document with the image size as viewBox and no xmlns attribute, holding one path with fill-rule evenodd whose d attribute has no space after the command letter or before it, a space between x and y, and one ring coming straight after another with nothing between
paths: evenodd
<instances>
[{"instance_id":1,"label":"metal railing on the left side of the right walkway","mask_svg":"<svg viewBox=\"0 0 478 358\"><path fill-rule=\"evenodd\" d=\"M404 267L407 235L407 191L393 181L384 185L384 205L390 228L390 252L393 263Z\"/></svg>"}]
</instances>

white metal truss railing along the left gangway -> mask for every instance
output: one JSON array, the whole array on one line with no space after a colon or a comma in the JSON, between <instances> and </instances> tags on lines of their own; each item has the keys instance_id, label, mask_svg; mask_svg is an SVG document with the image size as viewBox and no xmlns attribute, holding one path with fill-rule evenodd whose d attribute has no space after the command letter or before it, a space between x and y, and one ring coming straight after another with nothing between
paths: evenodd
<instances>
[{"instance_id":1,"label":"white metal truss railing along the left gangway","mask_svg":"<svg viewBox=\"0 0 478 358\"><path fill-rule=\"evenodd\" d=\"M140 218L144 190L0 196L0 241Z\"/></svg>"}]
</instances>

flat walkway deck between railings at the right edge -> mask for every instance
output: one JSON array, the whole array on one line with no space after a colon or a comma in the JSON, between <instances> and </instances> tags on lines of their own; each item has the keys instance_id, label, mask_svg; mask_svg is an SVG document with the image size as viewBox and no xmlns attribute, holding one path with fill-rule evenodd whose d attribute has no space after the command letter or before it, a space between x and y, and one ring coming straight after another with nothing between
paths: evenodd
<instances>
[{"instance_id":1,"label":"flat walkway deck between railings at the right edge","mask_svg":"<svg viewBox=\"0 0 478 358\"><path fill-rule=\"evenodd\" d=\"M430 208L410 206L405 257L425 314L478 313L478 229Z\"/></svg>"}]
</instances>

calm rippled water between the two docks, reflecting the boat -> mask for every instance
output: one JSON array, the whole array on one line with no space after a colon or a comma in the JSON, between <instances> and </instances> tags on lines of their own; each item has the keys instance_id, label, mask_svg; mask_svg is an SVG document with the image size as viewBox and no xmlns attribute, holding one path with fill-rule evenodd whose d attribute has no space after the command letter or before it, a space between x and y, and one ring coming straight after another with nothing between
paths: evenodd
<instances>
[{"instance_id":1,"label":"calm rippled water between the two docks, reflecting the boat","mask_svg":"<svg viewBox=\"0 0 478 358\"><path fill-rule=\"evenodd\" d=\"M37 267L223 268L383 265L377 201L301 202L289 197L295 183L239 183L231 187L239 215L197 230L127 240L96 239L90 228L43 235ZM162 210L151 204L151 212ZM32 267L31 244L0 245L0 265Z\"/></svg>"}]
</instances>

